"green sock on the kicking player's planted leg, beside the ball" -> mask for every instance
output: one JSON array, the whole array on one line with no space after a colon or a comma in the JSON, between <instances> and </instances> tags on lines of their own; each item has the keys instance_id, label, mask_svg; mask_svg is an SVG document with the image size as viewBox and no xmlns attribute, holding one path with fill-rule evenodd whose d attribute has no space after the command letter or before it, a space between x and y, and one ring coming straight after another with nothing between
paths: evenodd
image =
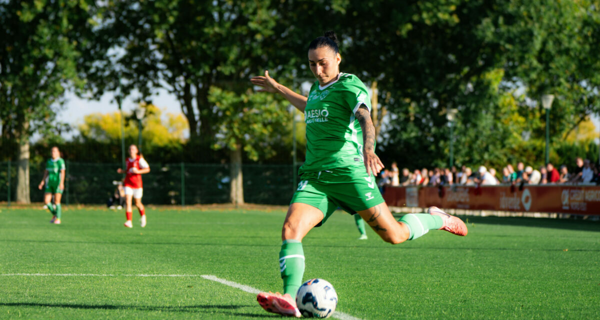
<instances>
[{"instance_id":1,"label":"green sock on the kicking player's planted leg, beside the ball","mask_svg":"<svg viewBox=\"0 0 600 320\"><path fill-rule=\"evenodd\" d=\"M304 276L304 250L298 240L284 240L279 252L279 268L283 279L283 294L296 298Z\"/></svg>"}]
</instances>

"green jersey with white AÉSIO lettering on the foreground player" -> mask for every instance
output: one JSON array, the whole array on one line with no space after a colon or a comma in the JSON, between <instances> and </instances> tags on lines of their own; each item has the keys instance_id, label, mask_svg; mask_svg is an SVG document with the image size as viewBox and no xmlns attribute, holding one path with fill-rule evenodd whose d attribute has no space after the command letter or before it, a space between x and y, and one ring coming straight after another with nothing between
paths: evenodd
<instances>
[{"instance_id":1,"label":"green jersey with white A\u00c9SIO lettering on the foreground player","mask_svg":"<svg viewBox=\"0 0 600 320\"><path fill-rule=\"evenodd\" d=\"M307 151L300 174L364 166L362 129L354 116L362 104L371 110L367 87L354 74L340 73L326 86L313 84L304 110Z\"/></svg>"}]
</instances>

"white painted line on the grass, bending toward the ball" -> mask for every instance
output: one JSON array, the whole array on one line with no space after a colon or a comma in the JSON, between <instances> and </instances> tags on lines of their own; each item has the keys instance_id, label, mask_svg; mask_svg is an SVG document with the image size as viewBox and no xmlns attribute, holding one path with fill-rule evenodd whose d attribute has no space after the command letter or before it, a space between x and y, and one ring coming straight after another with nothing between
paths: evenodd
<instances>
[{"instance_id":1,"label":"white painted line on the grass, bending toward the ball","mask_svg":"<svg viewBox=\"0 0 600 320\"><path fill-rule=\"evenodd\" d=\"M0 274L0 277L11 277L11 276L25 276L25 277L202 277L206 280L221 283L226 286L240 289L241 291L248 292L250 294L258 294L259 289L252 288L251 286L241 285L233 281L225 280L212 276L211 274L203 274L201 276L197 274L94 274L94 273L4 273ZM347 313L336 311L332 315L332 318L340 320L362 320L355 316L348 315Z\"/></svg>"}]
</instances>

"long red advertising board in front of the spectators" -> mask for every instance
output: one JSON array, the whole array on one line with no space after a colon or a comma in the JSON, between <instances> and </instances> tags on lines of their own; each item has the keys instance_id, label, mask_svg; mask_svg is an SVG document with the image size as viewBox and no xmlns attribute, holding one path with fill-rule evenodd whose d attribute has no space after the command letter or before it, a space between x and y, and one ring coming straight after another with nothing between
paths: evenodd
<instances>
[{"instance_id":1,"label":"long red advertising board in front of the spectators","mask_svg":"<svg viewBox=\"0 0 600 320\"><path fill-rule=\"evenodd\" d=\"M407 188L388 187L384 194L386 203L394 207L435 205L466 210L600 215L600 187L596 186L422 187L418 189L418 199L412 200L407 197L407 190L396 189Z\"/></svg>"}]
</instances>

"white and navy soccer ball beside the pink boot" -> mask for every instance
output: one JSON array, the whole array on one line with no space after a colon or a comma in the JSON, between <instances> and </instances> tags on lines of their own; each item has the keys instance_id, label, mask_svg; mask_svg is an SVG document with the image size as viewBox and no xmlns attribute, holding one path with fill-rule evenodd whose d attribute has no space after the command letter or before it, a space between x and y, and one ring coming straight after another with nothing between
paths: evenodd
<instances>
[{"instance_id":1,"label":"white and navy soccer ball beside the pink boot","mask_svg":"<svg viewBox=\"0 0 600 320\"><path fill-rule=\"evenodd\" d=\"M337 293L334 286L323 279L310 279L296 294L296 304L307 318L329 318L337 306Z\"/></svg>"}]
</instances>

